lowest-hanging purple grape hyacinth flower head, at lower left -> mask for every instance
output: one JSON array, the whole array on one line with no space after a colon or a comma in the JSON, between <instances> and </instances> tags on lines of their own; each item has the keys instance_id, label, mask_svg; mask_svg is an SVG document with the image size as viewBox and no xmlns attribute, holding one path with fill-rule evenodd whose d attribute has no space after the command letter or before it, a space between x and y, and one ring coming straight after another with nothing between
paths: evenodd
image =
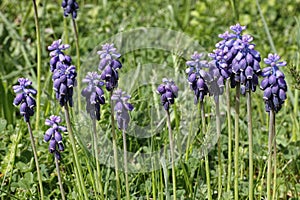
<instances>
[{"instance_id":1,"label":"lowest-hanging purple grape hyacinth flower head, at lower left","mask_svg":"<svg viewBox=\"0 0 300 200\"><path fill-rule=\"evenodd\" d=\"M67 132L67 128L64 126L60 126L61 118L59 116L52 115L49 119L46 119L45 124L47 126L51 126L45 135L45 142L49 142L49 152L54 153L55 157L60 160L61 155L60 152L64 151L64 145L62 143L62 136L60 131Z\"/></svg>"}]
</instances>

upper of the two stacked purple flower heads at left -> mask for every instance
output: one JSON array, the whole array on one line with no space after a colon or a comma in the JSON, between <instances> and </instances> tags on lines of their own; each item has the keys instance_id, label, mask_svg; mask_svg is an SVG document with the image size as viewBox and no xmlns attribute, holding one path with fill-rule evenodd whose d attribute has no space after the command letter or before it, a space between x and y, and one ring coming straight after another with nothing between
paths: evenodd
<instances>
[{"instance_id":1,"label":"upper of the two stacked purple flower heads at left","mask_svg":"<svg viewBox=\"0 0 300 200\"><path fill-rule=\"evenodd\" d=\"M56 65L58 62L65 63L67 65L71 65L72 59L70 56L65 55L63 50L70 48L68 44L61 44L61 39L54 41L50 46L48 46L48 50L50 51L50 70L53 72L56 69Z\"/></svg>"}]
</instances>

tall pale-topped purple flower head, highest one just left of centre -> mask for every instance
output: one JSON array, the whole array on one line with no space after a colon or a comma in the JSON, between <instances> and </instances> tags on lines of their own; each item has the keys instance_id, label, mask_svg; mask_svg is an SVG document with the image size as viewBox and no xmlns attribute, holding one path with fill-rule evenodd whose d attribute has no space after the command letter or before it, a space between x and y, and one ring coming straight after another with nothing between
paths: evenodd
<instances>
[{"instance_id":1,"label":"tall pale-topped purple flower head, highest one just left of centre","mask_svg":"<svg viewBox=\"0 0 300 200\"><path fill-rule=\"evenodd\" d=\"M102 50L97 52L100 55L99 70L102 71L101 79L105 81L106 89L112 91L118 87L119 74L118 70L122 68L121 62L118 60L119 54L114 44L102 45Z\"/></svg>"}]
</instances>

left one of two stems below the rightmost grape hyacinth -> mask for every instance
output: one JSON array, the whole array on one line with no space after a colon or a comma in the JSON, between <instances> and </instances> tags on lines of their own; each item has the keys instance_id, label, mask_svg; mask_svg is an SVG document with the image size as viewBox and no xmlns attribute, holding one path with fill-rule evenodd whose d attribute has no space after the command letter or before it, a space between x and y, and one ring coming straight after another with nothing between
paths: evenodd
<instances>
[{"instance_id":1,"label":"left one of two stems below the rightmost grape hyacinth","mask_svg":"<svg viewBox=\"0 0 300 200\"><path fill-rule=\"evenodd\" d=\"M268 170L267 170L267 199L271 200L271 179L272 179L272 143L273 143L273 132L274 132L274 119L275 113L273 110L270 110L269 116L269 141L268 141Z\"/></svg>"}]
</instances>

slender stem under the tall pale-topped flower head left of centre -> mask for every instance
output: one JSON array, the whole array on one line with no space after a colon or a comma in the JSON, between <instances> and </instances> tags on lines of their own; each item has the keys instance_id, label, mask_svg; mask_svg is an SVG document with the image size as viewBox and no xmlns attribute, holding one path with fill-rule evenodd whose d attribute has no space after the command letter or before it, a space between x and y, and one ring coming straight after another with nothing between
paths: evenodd
<instances>
[{"instance_id":1,"label":"slender stem under the tall pale-topped flower head left of centre","mask_svg":"<svg viewBox=\"0 0 300 200\"><path fill-rule=\"evenodd\" d=\"M121 187L119 179L119 165L118 165L118 151L117 151L117 136L115 133L115 119L114 119L114 108L113 100L111 99L113 91L110 92L110 117L111 117L111 134L113 140L113 149L114 149L114 163L115 163L115 173L116 173L116 184L117 184L117 199L121 199Z\"/></svg>"}]
</instances>

